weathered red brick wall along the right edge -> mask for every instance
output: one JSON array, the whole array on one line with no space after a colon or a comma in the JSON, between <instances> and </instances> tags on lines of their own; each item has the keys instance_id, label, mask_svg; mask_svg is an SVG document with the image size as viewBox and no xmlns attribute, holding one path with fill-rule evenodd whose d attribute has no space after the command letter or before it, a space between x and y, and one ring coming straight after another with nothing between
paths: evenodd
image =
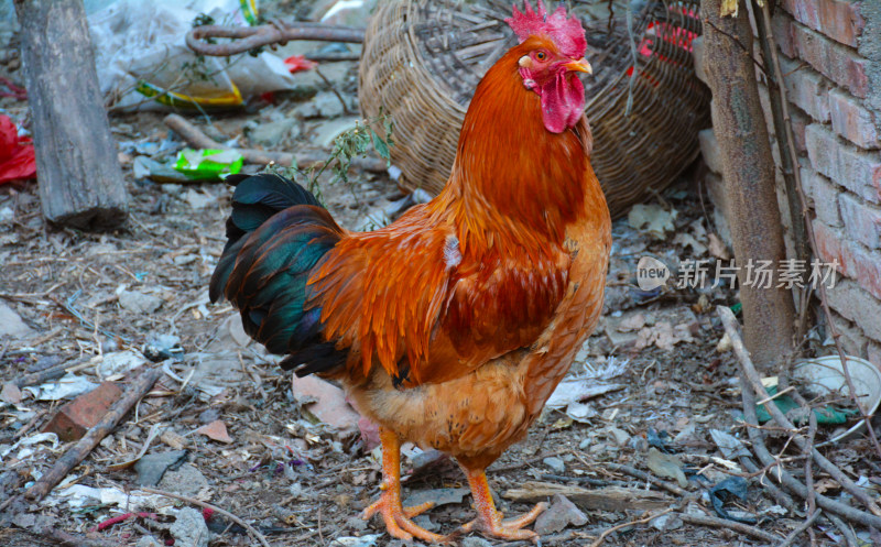
<instances>
[{"instance_id":1,"label":"weathered red brick wall along the right edge","mask_svg":"<svg viewBox=\"0 0 881 547\"><path fill-rule=\"evenodd\" d=\"M881 0L777 0L772 26L818 258L840 264L829 292L834 321L848 352L881 367ZM768 91L760 91L773 139ZM724 211L713 130L700 143L714 172L710 198ZM777 185L781 195L780 173ZM781 209L788 231L785 200Z\"/></svg>"}]
</instances>

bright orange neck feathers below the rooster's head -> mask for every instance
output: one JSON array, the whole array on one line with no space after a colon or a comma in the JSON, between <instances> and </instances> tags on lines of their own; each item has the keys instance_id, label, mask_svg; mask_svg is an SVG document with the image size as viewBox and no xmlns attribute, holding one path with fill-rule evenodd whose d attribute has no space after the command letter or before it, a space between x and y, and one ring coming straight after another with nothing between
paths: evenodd
<instances>
[{"instance_id":1,"label":"bright orange neck feathers below the rooster's head","mask_svg":"<svg viewBox=\"0 0 881 547\"><path fill-rule=\"evenodd\" d=\"M518 72L518 61L537 40L513 47L490 68L465 117L453 174L436 200L438 210L454 211L463 252L559 244L594 194L587 187L596 184L587 123L547 131L541 99Z\"/></svg>"}]
</instances>

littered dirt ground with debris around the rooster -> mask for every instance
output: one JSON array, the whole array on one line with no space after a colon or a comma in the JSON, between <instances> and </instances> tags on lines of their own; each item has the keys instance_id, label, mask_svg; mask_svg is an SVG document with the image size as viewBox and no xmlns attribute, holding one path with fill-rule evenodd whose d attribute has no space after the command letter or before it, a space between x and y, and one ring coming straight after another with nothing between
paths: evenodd
<instances>
[{"instance_id":1,"label":"littered dirt ground with debris around the rooster","mask_svg":"<svg viewBox=\"0 0 881 547\"><path fill-rule=\"evenodd\" d=\"M356 77L356 65L342 64L331 80L351 106ZM213 114L211 127L198 116L191 120L218 140L258 147L248 136L255 128L278 121L280 113L296 117L308 101L282 98L243 112ZM25 102L4 98L0 107L17 121L26 121ZM314 400L295 395L289 374L273 364L274 358L243 337L237 311L228 303L208 302L208 281L226 241L229 188L222 183L159 183L135 176L137 156L164 157L183 145L163 125L163 116L110 118L131 197L122 229L90 233L50 226L41 215L34 183L0 186L0 304L28 329L0 336L0 381L69 364L78 378L96 384L109 379L124 389L134 374L128 370L132 363L165 370L152 392L70 472L63 488L43 502L4 504L0 543L58 545L61 530L74 534L79 545L191 545L174 525L184 522L182 508L202 507L163 496L155 497L154 505L143 505L152 514L93 532L135 505L126 499L139 491L141 475L149 470L111 467L132 460L150 439L148 456L186 452L163 468L156 488L222 508L252 525L273 546L401 545L390 539L378 519L358 518L379 493L380 464L369 434L357 427L340 431L318 419ZM289 133L274 149L317 150L315 135L326 121L320 116L297 119L297 134ZM575 503L572 508L555 502L553 514L566 518L563 525L569 524L544 534L543 545L588 545L612 526L642 521L674 505L670 516L622 526L605 537L605 544L772 543L729 525L687 518L718 518L710 489L725 479L749 475L719 451L710 435L713 429L746 435L737 422L742 411L736 358L730 350L717 349L724 331L714 313L717 305L736 305L737 293L725 287L644 293L634 282L635 264L643 255L672 261L719 260L725 254L713 239L717 228L710 205L700 196L699 174L695 166L654 201L667 216L677 211L660 237L634 229L627 218L614 223L603 319L569 376L589 379L599 393L583 390L576 397L583 401L546 409L527 439L488 470L499 506L508 515L548 500L546 489L552 486ZM348 228L363 226L369 216L403 197L384 174L354 171L350 176L350 185L331 184L326 177L320 188L328 209ZM677 236L683 233L690 239ZM812 351L829 349L817 346ZM144 357L156 352L155 361ZM119 357L121 364L108 355ZM64 403L36 400L26 391L19 403L0 402L0 503L21 493L73 446L51 439L20 442L37 435ZM226 436L218 431L218 423ZM200 429L207 425L211 427ZM785 441L780 437L769 444L781 457L797 459L800 452ZM862 456L869 453L868 441L858 438L824 450L850 478L868 478L867 488L878 488L881 470ZM664 457L665 452L675 458ZM418 523L450 533L474 517L470 495L458 490L467 483L454 462L413 447L405 447L402 460L405 499L433 495L446 502ZM659 475L657 462L667 460L677 461L672 463L675 469ZM631 469L650 479L635 477ZM747 477L744 499L729 496L724 510L754 518L750 526L779 543L802 523L803 506L796 501L795 513L781 507L762 488L762 480L768 479ZM827 495L847 497L822 473L815 480ZM74 493L75 484L101 496ZM592 490L601 494L591 496ZM554 528L554 523L545 524L546 529ZM213 515L207 526L213 547L258 545L246 528L225 516ZM817 532L817 545L841 540L834 528L826 532ZM525 545L487 541L477 535L459 539L471 547Z\"/></svg>"}]
</instances>

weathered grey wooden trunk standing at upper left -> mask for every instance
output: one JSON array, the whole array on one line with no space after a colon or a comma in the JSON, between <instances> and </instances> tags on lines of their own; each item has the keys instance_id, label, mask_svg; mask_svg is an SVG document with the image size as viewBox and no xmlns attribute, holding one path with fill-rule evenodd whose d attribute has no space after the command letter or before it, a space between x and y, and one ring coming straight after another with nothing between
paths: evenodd
<instances>
[{"instance_id":1,"label":"weathered grey wooden trunk standing at upper left","mask_svg":"<svg viewBox=\"0 0 881 547\"><path fill-rule=\"evenodd\" d=\"M15 12L43 215L84 229L117 227L128 196L83 0L15 0Z\"/></svg>"}]
</instances>

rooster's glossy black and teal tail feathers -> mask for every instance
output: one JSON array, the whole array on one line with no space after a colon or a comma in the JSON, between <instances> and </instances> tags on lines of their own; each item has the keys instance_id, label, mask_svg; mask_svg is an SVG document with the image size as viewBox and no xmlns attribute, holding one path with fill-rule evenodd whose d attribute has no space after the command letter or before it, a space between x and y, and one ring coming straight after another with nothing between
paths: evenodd
<instances>
[{"instance_id":1,"label":"rooster's glossy black and teal tail feathers","mask_svg":"<svg viewBox=\"0 0 881 547\"><path fill-rule=\"evenodd\" d=\"M328 372L347 353L323 337L320 307L306 282L341 237L308 190L282 176L231 175L227 244L209 286L211 302L236 306L246 332L298 375Z\"/></svg>"}]
</instances>

